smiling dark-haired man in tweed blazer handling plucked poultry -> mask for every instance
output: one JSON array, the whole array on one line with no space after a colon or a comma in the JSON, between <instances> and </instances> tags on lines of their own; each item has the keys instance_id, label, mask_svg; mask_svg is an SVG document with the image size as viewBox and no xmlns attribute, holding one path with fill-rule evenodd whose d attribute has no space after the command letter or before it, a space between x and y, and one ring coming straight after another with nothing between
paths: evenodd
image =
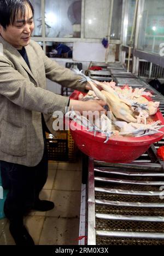
<instances>
[{"instance_id":1,"label":"smiling dark-haired man in tweed blazer handling plucked poultry","mask_svg":"<svg viewBox=\"0 0 164 256\"><path fill-rule=\"evenodd\" d=\"M25 213L54 208L53 202L39 199L48 175L45 129L53 132L52 113L65 113L68 105L80 112L103 110L103 102L69 102L46 91L46 77L81 91L89 87L30 40L33 13L29 0L0 0L0 168L2 185L9 189L4 213L17 245L34 245L23 224Z\"/></svg>"}]
</instances>

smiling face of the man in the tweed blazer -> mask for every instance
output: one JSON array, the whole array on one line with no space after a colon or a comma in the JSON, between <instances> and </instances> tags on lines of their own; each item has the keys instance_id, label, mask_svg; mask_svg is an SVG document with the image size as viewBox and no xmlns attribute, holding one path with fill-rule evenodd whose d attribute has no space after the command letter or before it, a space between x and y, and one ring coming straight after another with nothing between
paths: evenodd
<instances>
[{"instance_id":1,"label":"smiling face of the man in the tweed blazer","mask_svg":"<svg viewBox=\"0 0 164 256\"><path fill-rule=\"evenodd\" d=\"M23 46L30 43L33 29L33 14L28 4L26 4L25 23L20 12L18 12L14 25L9 25L6 30L0 25L1 36L16 49L22 49Z\"/></svg>"}]
</instances>

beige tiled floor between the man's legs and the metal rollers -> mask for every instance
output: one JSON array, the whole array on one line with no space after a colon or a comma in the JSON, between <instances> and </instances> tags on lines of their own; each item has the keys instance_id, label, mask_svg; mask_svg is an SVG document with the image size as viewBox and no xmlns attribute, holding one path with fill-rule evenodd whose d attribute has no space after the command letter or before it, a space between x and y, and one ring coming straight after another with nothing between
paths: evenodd
<instances>
[{"instance_id":1,"label":"beige tiled floor between the man's legs and the metal rollers","mask_svg":"<svg viewBox=\"0 0 164 256\"><path fill-rule=\"evenodd\" d=\"M49 162L49 176L40 199L53 201L55 208L49 212L31 212L24 221L35 244L78 244L80 196L81 160ZM0 220L0 244L15 244L7 219Z\"/></svg>"}]
</instances>

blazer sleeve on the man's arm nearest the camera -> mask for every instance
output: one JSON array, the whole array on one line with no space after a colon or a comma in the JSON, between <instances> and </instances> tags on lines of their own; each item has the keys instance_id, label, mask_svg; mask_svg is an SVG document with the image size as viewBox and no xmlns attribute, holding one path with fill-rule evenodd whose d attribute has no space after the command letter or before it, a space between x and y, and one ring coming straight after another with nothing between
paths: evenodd
<instances>
[{"instance_id":1,"label":"blazer sleeve on the man's arm nearest the camera","mask_svg":"<svg viewBox=\"0 0 164 256\"><path fill-rule=\"evenodd\" d=\"M65 113L69 101L67 97L35 87L3 57L0 61L0 94L21 108L49 115L56 110Z\"/></svg>"}]
</instances>

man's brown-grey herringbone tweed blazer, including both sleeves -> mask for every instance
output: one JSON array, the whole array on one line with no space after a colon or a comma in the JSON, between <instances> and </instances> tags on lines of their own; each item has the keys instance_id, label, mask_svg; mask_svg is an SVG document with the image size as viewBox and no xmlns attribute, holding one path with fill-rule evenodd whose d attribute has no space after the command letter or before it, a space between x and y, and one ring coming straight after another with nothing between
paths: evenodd
<instances>
[{"instance_id":1,"label":"man's brown-grey herringbone tweed blazer, including both sleeves","mask_svg":"<svg viewBox=\"0 0 164 256\"><path fill-rule=\"evenodd\" d=\"M21 54L3 40L0 55L0 160L37 165L43 156L41 113L52 130L52 113L65 113L68 98L46 90L46 77L62 86L84 91L80 76L63 68L31 40L26 52L31 70Z\"/></svg>"}]
</instances>

